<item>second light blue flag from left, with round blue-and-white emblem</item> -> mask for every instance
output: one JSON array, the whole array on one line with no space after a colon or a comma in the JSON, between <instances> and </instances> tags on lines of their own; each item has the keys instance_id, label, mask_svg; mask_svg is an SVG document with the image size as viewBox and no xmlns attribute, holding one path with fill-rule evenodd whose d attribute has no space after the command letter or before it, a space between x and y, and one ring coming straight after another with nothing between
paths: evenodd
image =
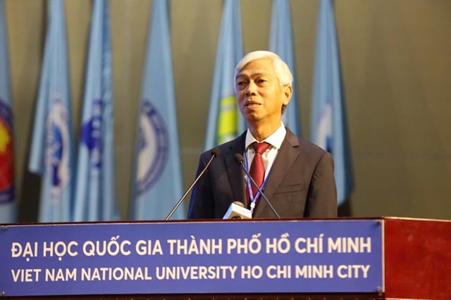
<instances>
[{"instance_id":1,"label":"second light blue flag from left, with round blue-and-white emblem","mask_svg":"<svg viewBox=\"0 0 451 300\"><path fill-rule=\"evenodd\" d=\"M49 22L28 168L42 177L39 222L67 222L73 208L74 144L64 2Z\"/></svg>"}]
</instances>

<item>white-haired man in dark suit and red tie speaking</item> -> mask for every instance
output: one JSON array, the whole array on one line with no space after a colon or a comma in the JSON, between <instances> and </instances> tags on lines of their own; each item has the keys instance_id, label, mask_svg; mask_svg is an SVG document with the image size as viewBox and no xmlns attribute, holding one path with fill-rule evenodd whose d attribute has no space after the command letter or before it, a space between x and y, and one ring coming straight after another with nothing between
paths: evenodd
<instances>
[{"instance_id":1,"label":"white-haired man in dark suit and red tie speaking","mask_svg":"<svg viewBox=\"0 0 451 300\"><path fill-rule=\"evenodd\" d=\"M247 54L235 68L235 94L248 129L218 146L221 154L192 191L188 218L223 218L233 201L251 209L252 218L275 218L266 201L252 191L235 154L245 157L251 173L259 168L254 164L261 165L261 189L281 218L336 217L332 156L297 137L282 123L292 95L288 65L268 51ZM264 150L257 150L257 144L264 144ZM211 151L200 156L197 174L210 158Z\"/></svg>"}]
</instances>

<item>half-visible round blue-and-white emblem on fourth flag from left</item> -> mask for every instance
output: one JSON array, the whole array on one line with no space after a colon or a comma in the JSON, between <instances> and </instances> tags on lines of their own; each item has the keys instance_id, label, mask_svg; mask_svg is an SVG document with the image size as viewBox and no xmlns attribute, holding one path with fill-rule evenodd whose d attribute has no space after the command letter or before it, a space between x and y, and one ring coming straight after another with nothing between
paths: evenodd
<instances>
[{"instance_id":1,"label":"half-visible round blue-and-white emblem on fourth flag from left","mask_svg":"<svg viewBox=\"0 0 451 300\"><path fill-rule=\"evenodd\" d=\"M163 118L149 101L139 116L137 154L137 192L142 194L155 184L168 160L169 139Z\"/></svg>"}]
</instances>

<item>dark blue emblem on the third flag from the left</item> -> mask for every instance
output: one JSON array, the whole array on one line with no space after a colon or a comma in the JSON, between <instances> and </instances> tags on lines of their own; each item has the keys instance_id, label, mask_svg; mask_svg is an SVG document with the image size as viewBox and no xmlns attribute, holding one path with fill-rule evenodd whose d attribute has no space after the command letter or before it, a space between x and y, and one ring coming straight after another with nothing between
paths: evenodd
<instances>
[{"instance_id":1,"label":"dark blue emblem on the third flag from the left","mask_svg":"<svg viewBox=\"0 0 451 300\"><path fill-rule=\"evenodd\" d=\"M91 166L100 168L101 165L101 115L103 103L101 100L94 100L92 104L92 117L82 124L81 142L87 146Z\"/></svg>"}]
</instances>

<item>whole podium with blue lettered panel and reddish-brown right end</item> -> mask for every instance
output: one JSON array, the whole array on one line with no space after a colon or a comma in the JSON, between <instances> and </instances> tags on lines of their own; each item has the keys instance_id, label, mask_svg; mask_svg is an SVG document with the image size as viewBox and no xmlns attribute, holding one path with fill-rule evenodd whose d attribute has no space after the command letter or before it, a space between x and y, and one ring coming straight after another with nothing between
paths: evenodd
<instances>
[{"instance_id":1,"label":"whole podium with blue lettered panel and reddish-brown right end","mask_svg":"<svg viewBox=\"0 0 451 300\"><path fill-rule=\"evenodd\" d=\"M1 225L5 299L450 299L451 221Z\"/></svg>"}]
</instances>

